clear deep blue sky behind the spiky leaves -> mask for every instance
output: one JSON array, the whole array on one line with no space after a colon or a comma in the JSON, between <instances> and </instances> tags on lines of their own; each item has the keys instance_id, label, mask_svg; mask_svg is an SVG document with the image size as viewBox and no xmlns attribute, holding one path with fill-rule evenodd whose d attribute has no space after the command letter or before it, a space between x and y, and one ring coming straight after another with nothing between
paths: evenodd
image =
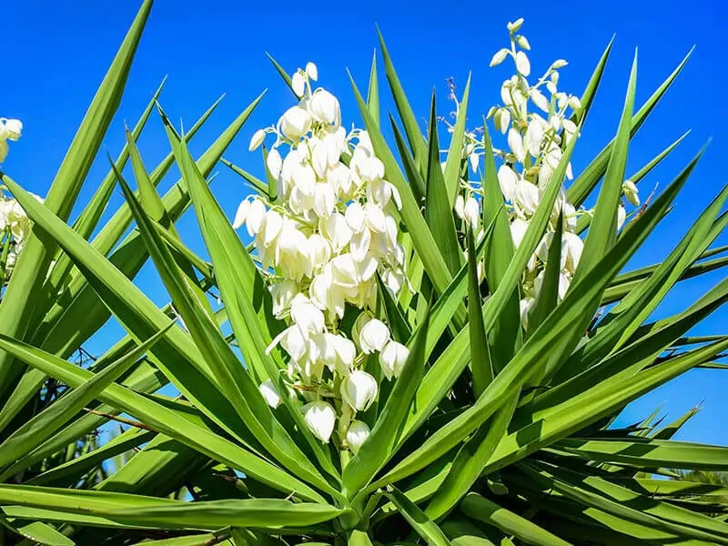
<instances>
[{"instance_id":1,"label":"clear deep blue sky behind the spiky leaves","mask_svg":"<svg viewBox=\"0 0 728 546\"><path fill-rule=\"evenodd\" d=\"M25 124L24 136L12 146L5 170L35 193L45 195L76 131L76 127L106 72L126 27L140 2L47 2L6 0L4 82L0 116L19 117ZM319 83L339 96L343 118L359 124L346 68L366 88L369 63L377 45L375 23L379 24L397 66L399 77L420 117L427 116L433 87L438 92L440 113L446 105L445 78L454 76L464 84L473 73L470 99L471 126L498 100L501 81L508 69L490 69L490 56L506 45L505 25L519 16L526 19L523 34L531 41L534 73L556 58L566 58L570 66L562 71L560 88L581 93L602 49L612 34L616 42L601 91L597 96L580 145L574 170L578 174L586 162L612 137L622 107L624 89L635 46L640 48L637 98L642 103L667 76L692 45L697 45L688 66L672 86L651 120L633 141L628 171L641 167L688 128L693 132L642 183L647 194L654 184L661 188L703 145L713 142L691 181L677 200L677 208L658 229L647 248L635 259L634 267L663 258L679 240L700 210L723 187L723 161L728 149L728 108L725 89L728 76L723 70L724 41L728 31L726 11L720 2L693 0L690 3L573 2L547 10L542 2L508 4L450 2L334 2L298 5L248 3L216 0L206 3L189 0L157 0L147 25L126 96L105 146L115 153L123 140L124 121L131 125L147 103L163 76L168 75L162 104L173 119L191 126L197 116L217 96L227 93L216 116L201 131L193 151L207 147L224 126L258 95L268 94L248 122L226 157L253 172L262 174L259 157L248 154L248 138L258 126L274 123L290 106L291 96L268 63L268 51L288 70L313 60L319 66ZM383 72L383 111L391 109ZM141 148L148 166L154 166L168 150L157 119L150 122ZM106 173L106 159L98 162L82 192L85 200ZM214 190L223 206L233 214L247 193L241 180L220 166ZM166 189L172 183L169 177ZM112 205L121 197L116 195ZM195 219L187 215L180 223L191 247L200 249ZM723 237L719 244L725 244ZM679 312L693 298L723 278L722 272L686 281L656 313L663 317ZM159 303L167 297L150 268L138 278L139 284ZM728 317L718 311L695 333L724 333ZM118 333L115 325L90 344L92 352L103 349L104 341ZM676 419L685 410L704 400L705 406L685 426L680 438L728 444L723 425L728 412L725 396L728 371L695 370L659 389L625 411L626 424L649 414L665 402L663 413Z\"/></svg>"}]
</instances>

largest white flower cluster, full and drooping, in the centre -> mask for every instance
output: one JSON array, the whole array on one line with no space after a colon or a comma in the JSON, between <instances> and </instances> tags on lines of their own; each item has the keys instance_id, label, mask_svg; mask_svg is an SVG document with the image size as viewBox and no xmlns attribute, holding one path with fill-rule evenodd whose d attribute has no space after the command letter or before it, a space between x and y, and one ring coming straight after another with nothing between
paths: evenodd
<instances>
[{"instance_id":1,"label":"largest white flower cluster, full and drooping, in the centre","mask_svg":"<svg viewBox=\"0 0 728 546\"><path fill-rule=\"evenodd\" d=\"M233 226L245 225L269 282L273 312L288 328L268 350L288 355L288 381L303 406L304 420L324 442L339 419L339 440L357 451L369 428L355 420L377 398L377 380L365 371L377 354L383 375L397 377L408 349L391 339L376 318L377 275L398 294L406 282L405 252L393 213L397 188L385 179L366 131L341 126L339 100L312 88L318 69L308 63L291 78L298 104L276 126L258 129L249 149L274 135L266 160L278 197L248 197ZM360 309L350 339L339 329L345 310ZM260 386L277 407L272 381Z\"/></svg>"}]
</instances>

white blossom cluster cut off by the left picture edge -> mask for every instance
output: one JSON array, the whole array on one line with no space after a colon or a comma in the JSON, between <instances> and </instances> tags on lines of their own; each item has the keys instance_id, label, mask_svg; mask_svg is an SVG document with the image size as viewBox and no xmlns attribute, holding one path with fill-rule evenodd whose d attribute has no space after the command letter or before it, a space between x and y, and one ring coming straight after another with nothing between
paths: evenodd
<instances>
[{"instance_id":1,"label":"white blossom cluster cut off by the left picture edge","mask_svg":"<svg viewBox=\"0 0 728 546\"><path fill-rule=\"evenodd\" d=\"M19 119L8 119L0 117L0 163L5 161L9 150L7 142L16 141L23 132L23 124ZM35 196L38 200L42 199ZM17 201L12 197L6 197L0 192L0 240L3 246L7 244L7 256L5 258L4 278L9 277L17 256L20 253L25 239L30 233L32 222L25 215L25 210L20 207Z\"/></svg>"}]
</instances>

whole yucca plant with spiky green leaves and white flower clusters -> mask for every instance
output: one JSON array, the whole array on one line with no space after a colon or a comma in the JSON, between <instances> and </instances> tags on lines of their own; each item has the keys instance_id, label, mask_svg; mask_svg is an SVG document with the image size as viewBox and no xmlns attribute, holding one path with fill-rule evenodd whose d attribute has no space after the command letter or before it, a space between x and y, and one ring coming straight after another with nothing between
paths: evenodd
<instances>
[{"instance_id":1,"label":"whole yucca plant with spiky green leaves and white flower clusters","mask_svg":"<svg viewBox=\"0 0 728 546\"><path fill-rule=\"evenodd\" d=\"M685 337L725 279L652 319L680 280L726 264L710 249L725 189L661 263L624 270L699 159L638 206L635 185L680 139L625 177L629 143L687 59L636 112L635 63L617 135L566 184L611 45L581 96L558 91L562 61L531 86L522 20L491 61L515 62L502 104L469 130L466 86L444 156L434 100L423 135L383 40L399 120L381 119L372 65L366 99L352 81L364 128L349 133L315 65L289 76L274 61L294 97L251 139L268 139L264 177L222 160L260 97L196 160L187 142L215 105L180 134L160 88L68 223L151 4L45 201L0 173L33 222L0 304L0 543L728 543L723 485L662 479L728 468L725 448L672 440L693 412L612 427L728 348ZM149 169L136 138L155 109L171 152ZM232 222L208 187L221 160L255 190ZM126 203L99 226L117 185ZM190 204L204 257L175 228ZM164 308L133 282L148 258ZM79 362L111 318L126 337ZM125 428L98 442L110 422Z\"/></svg>"}]
</instances>

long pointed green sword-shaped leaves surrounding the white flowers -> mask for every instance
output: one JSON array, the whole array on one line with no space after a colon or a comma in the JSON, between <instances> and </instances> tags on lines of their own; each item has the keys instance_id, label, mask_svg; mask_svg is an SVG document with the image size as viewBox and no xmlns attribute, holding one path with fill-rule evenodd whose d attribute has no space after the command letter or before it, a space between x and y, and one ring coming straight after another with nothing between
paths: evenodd
<instances>
[{"instance_id":1,"label":"long pointed green sword-shaped leaves surrounding the white flowers","mask_svg":"<svg viewBox=\"0 0 728 546\"><path fill-rule=\"evenodd\" d=\"M214 106L180 135L158 106L160 87L94 197L68 222L80 188L91 183L86 175L151 4L141 6L45 203L23 180L0 173L35 223L0 303L0 544L728 544L728 448L672 440L696 410L664 426L656 413L612 428L627 404L665 382L690 369L724 368L718 360L728 349L721 332L686 337L728 299L726 279L682 312L651 321L682 279L728 265L716 258L726 248L710 248L728 223L728 189L662 263L624 270L700 156L616 228L632 136L687 59L634 114L635 58L616 136L565 193L578 206L598 192L593 215L576 225L585 234L579 268L560 295L561 210L524 326L521 279L554 222L578 138L563 143L514 245L486 128L481 216L473 225L461 221L453 206L467 183L470 79L442 161L434 98L423 136L379 35L399 116L389 115L393 147L381 127L376 56L366 100L356 85L354 95L399 190L407 271L421 292L397 298L375 281L380 317L410 353L399 378L379 390L366 413L370 435L352 454L336 435L339 445L317 440L293 399L272 409L258 389L269 380L287 391L287 357L268 346L288 319L273 316L268 272L238 238L207 177L221 161L276 200L269 174L264 181L222 158L261 96L196 160L187 142ZM611 45L572 117L580 128L589 127ZM270 58L293 91L295 82ZM170 153L147 171L136 139L154 106ZM129 160L136 191L121 174ZM181 178L160 196L157 185L175 164ZM126 203L99 226L116 184ZM190 206L207 256L175 228ZM123 238L132 222L136 229ZM133 282L149 258L169 295L163 308ZM112 318L126 336L90 365L74 359ZM231 334L223 333L227 324ZM160 392L169 384L179 396ZM99 442L96 432L110 426L122 431Z\"/></svg>"}]
</instances>

